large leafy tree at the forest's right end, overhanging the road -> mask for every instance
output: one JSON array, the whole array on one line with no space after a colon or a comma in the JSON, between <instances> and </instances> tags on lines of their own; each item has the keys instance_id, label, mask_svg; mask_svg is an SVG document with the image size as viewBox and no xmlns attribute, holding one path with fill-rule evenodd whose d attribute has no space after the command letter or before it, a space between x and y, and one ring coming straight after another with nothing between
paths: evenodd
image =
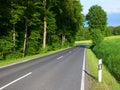
<instances>
[{"instance_id":1,"label":"large leafy tree at the forest's right end, overhanging the road","mask_svg":"<svg viewBox=\"0 0 120 90\"><path fill-rule=\"evenodd\" d=\"M74 43L76 32L83 21L82 6L78 0L62 0L55 10L58 35L61 37L61 47L66 43Z\"/></svg>"}]
</instances>

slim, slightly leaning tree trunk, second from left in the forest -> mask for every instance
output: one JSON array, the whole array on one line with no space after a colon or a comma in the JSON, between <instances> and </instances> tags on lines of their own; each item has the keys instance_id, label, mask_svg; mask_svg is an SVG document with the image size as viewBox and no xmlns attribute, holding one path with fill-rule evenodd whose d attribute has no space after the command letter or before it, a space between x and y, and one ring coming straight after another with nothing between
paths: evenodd
<instances>
[{"instance_id":1,"label":"slim, slightly leaning tree trunk, second from left in the forest","mask_svg":"<svg viewBox=\"0 0 120 90\"><path fill-rule=\"evenodd\" d=\"M23 44L23 57L25 57L25 55L26 55L27 31L28 31L28 22L27 22L27 19L26 19L25 34L24 34L24 44Z\"/></svg>"}]
</instances>

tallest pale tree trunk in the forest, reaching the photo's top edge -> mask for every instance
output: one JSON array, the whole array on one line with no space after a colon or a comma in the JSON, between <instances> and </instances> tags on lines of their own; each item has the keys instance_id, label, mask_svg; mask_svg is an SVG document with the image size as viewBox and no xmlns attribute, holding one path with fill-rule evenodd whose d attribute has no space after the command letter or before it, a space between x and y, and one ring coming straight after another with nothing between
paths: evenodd
<instances>
[{"instance_id":1,"label":"tallest pale tree trunk in the forest, reaching the photo's top edge","mask_svg":"<svg viewBox=\"0 0 120 90\"><path fill-rule=\"evenodd\" d=\"M47 34L47 31L46 31L46 28L47 28L47 21L46 21L46 0L43 0L43 3L44 3L44 11L45 11L45 14L44 14L44 32L43 32L43 48L46 48L46 34Z\"/></svg>"}]
</instances>

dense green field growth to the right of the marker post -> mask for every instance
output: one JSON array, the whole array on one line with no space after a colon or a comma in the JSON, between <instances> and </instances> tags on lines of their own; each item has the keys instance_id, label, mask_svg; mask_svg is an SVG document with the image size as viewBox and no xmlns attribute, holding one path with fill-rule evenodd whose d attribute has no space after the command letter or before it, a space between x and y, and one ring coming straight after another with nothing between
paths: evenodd
<instances>
[{"instance_id":1,"label":"dense green field growth to the right of the marker post","mask_svg":"<svg viewBox=\"0 0 120 90\"><path fill-rule=\"evenodd\" d=\"M120 82L120 39L105 40L96 45L93 49L98 58L103 59L103 63L110 72Z\"/></svg>"}]
</instances>

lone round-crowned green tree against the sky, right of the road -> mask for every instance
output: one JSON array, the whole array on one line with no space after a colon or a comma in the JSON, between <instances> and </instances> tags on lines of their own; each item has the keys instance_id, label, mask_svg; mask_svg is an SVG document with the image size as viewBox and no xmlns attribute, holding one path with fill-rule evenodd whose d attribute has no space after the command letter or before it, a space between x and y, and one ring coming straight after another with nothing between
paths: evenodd
<instances>
[{"instance_id":1,"label":"lone round-crowned green tree against the sky, right of the road","mask_svg":"<svg viewBox=\"0 0 120 90\"><path fill-rule=\"evenodd\" d=\"M88 21L88 24L89 24L89 29L90 29L90 32L92 35L92 39L95 39L95 40L93 40L95 42L94 44L97 44L96 42L102 41L99 38L103 38L101 36L104 35L104 31L105 31L105 28L107 25L106 12L101 8L101 6L94 5L89 9L88 14L86 15L86 20ZM96 33L94 33L93 30L97 30ZM100 30L100 31L98 31L98 30ZM96 34L97 37L94 37L94 36L96 36L94 34ZM103 35L101 35L101 34L103 34ZM100 36L98 36L98 35L100 35ZM99 40L97 40L97 39L99 39Z\"/></svg>"}]
</instances>

